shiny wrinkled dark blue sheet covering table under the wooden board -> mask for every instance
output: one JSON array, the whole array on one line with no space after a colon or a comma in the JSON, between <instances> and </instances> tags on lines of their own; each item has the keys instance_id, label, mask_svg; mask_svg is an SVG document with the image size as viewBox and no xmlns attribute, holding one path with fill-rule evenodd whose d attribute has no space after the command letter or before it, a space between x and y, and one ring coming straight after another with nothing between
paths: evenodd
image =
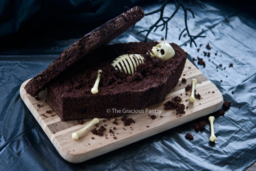
<instances>
[{"instance_id":1,"label":"shiny wrinkled dark blue sheet covering table under the wooden board","mask_svg":"<svg viewBox=\"0 0 256 171\"><path fill-rule=\"evenodd\" d=\"M31 3L39 2L31 0ZM206 67L193 61L195 66L216 85L224 100L232 103L225 116L214 122L217 137L214 146L208 140L209 125L199 133L187 126L183 128L184 133L177 133L178 128L172 128L86 162L65 161L22 102L19 88L23 81L47 68L77 38L51 42L38 39L31 44L40 46L9 47L0 51L0 170L234 171L252 165L256 161L256 19L234 7L205 4L205 9L193 4L191 8L196 17L193 19L189 14L188 20L191 34L196 35L203 29L202 35L207 36L196 39L198 47L189 46L188 36L178 40L184 29L182 10L168 24L167 41L181 45L190 61L197 56L203 58ZM142 7L147 13L159 5ZM168 4L164 14L169 16L174 9L173 4ZM148 28L157 18L158 14L144 17L111 43L143 41L146 33L136 33ZM15 21L15 24L18 27L19 23ZM159 40L164 34L160 30L152 32L149 41ZM206 49L207 43L211 50ZM200 44L203 46L199 47ZM211 56L203 56L203 51L211 52ZM229 68L230 63L234 66ZM188 132L194 135L194 141L185 139Z\"/></svg>"}]
</instances>

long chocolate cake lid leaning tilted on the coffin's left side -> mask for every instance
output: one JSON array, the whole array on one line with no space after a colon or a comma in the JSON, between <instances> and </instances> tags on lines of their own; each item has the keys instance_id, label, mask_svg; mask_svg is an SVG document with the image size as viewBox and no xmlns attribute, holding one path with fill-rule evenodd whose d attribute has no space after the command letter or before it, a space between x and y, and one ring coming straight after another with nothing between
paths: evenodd
<instances>
[{"instance_id":1,"label":"long chocolate cake lid leaning tilted on the coffin's left side","mask_svg":"<svg viewBox=\"0 0 256 171\"><path fill-rule=\"evenodd\" d=\"M84 58L91 51L110 43L119 34L122 34L137 21L140 21L142 17L144 17L143 9L136 6L120 14L118 17L107 21L90 33L85 34L84 37L63 51L57 60L54 60L48 68L32 78L25 86L26 92L35 97L47 87L50 81L67 68Z\"/></svg>"}]
</instances>

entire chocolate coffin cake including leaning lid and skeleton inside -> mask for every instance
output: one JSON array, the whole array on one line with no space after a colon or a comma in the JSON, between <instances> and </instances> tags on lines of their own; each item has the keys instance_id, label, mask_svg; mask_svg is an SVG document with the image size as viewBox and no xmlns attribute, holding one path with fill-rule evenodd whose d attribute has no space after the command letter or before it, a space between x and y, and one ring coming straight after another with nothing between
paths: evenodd
<instances>
[{"instance_id":1,"label":"entire chocolate coffin cake including leaning lid and skeleton inside","mask_svg":"<svg viewBox=\"0 0 256 171\"><path fill-rule=\"evenodd\" d=\"M86 34L31 79L26 92L34 97L47 88L48 104L61 120L110 118L122 114L112 109L162 102L181 77L187 53L175 43L107 45L143 16L134 7Z\"/></svg>"}]
</instances>

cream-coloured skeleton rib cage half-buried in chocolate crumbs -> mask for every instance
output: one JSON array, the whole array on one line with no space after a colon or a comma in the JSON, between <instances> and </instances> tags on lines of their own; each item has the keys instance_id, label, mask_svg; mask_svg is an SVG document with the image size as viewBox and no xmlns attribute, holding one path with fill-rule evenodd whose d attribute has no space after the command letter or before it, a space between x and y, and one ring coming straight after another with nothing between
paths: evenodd
<instances>
[{"instance_id":1,"label":"cream-coloured skeleton rib cage half-buried in chocolate crumbs","mask_svg":"<svg viewBox=\"0 0 256 171\"><path fill-rule=\"evenodd\" d=\"M124 70L125 74L133 74L136 71L136 67L139 64L144 63L144 61L144 57L139 54L126 54L115 58L111 65L120 72L123 72Z\"/></svg>"}]
</instances>

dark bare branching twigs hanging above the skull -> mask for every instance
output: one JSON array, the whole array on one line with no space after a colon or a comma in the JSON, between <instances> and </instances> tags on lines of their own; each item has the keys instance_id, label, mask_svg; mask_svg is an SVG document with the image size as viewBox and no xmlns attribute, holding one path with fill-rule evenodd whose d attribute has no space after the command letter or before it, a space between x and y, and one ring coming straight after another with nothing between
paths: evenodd
<instances>
[{"instance_id":1,"label":"dark bare branching twigs hanging above the skull","mask_svg":"<svg viewBox=\"0 0 256 171\"><path fill-rule=\"evenodd\" d=\"M187 25L187 12L189 11L192 14L192 17L194 18L195 15L194 15L194 12L192 11L192 9L185 7L182 0L174 0L176 8L173 11L172 15L170 17L163 17L163 11L164 11L168 1L170 1L170 0L162 0L162 1L163 1L163 4L161 5L161 7L159 9L156 9L150 13L145 14L145 16L148 16L148 15L152 15L154 13L160 12L159 19L152 26L150 26L149 29L141 30L137 34L146 32L145 42L147 42L147 38L148 38L149 34L151 33L151 31L153 30L153 32L155 32L159 27L162 27L161 31L163 31L165 29L165 39L167 39L168 22L172 19L172 17L175 16L175 14L178 12L178 10L181 7L184 11L185 29L181 31L181 34L179 35L179 40L181 38L181 35L184 33L184 31L186 31L190 38L190 47L192 46L192 43L194 43L194 45L197 47L194 39L199 38L199 37L205 37L205 36L201 36L201 35L194 36L194 35L190 34L190 31L189 31L188 25ZM202 9L206 7L200 0L196 0L196 1L199 3L199 5Z\"/></svg>"}]
</instances>

